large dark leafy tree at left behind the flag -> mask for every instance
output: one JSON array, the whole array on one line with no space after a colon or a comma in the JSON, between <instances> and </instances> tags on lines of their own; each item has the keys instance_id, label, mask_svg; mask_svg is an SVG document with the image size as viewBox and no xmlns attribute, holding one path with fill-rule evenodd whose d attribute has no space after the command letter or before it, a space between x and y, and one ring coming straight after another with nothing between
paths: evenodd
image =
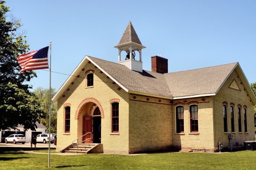
<instances>
[{"instance_id":1,"label":"large dark leafy tree at left behind the flag","mask_svg":"<svg viewBox=\"0 0 256 170\"><path fill-rule=\"evenodd\" d=\"M0 129L16 129L21 124L25 130L35 130L42 111L37 97L29 91L32 87L25 82L36 74L33 71L19 74L21 67L16 60L28 52L29 45L24 40L24 32L19 32L22 25L7 15L10 10L4 3L0 0Z\"/></svg>"}]
</instances>

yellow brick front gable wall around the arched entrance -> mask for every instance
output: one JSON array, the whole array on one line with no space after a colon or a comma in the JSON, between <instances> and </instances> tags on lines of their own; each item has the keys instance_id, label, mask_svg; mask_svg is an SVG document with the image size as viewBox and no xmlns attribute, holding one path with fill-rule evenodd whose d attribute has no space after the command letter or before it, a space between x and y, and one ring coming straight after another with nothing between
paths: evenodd
<instances>
[{"instance_id":1,"label":"yellow brick front gable wall around the arched entrance","mask_svg":"<svg viewBox=\"0 0 256 170\"><path fill-rule=\"evenodd\" d=\"M86 88L86 74L89 69L94 70L94 87ZM63 97L63 95L65 95ZM100 69L93 63L87 63L79 73L79 77L73 80L73 83L58 99L57 115L57 150L61 150L70 145L73 140L82 136L83 116L89 115L93 103L88 103L81 109L79 120L75 120L75 114L80 103L89 97L99 101L104 112L104 118L101 119L101 143L103 143L104 152L128 152L128 93L113 83ZM119 102L119 134L111 133L111 103L110 100L118 98ZM71 104L70 134L64 133L64 107L63 104Z\"/></svg>"}]
</instances>

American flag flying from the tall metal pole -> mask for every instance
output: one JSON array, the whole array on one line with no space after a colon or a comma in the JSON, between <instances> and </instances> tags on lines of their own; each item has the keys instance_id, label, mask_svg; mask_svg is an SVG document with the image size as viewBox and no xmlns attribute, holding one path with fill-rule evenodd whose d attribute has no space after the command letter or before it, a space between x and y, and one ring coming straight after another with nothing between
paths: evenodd
<instances>
[{"instance_id":1,"label":"American flag flying from the tall metal pole","mask_svg":"<svg viewBox=\"0 0 256 170\"><path fill-rule=\"evenodd\" d=\"M22 67L20 73L27 70L49 68L47 57L48 47L49 46L20 55L17 58L19 66Z\"/></svg>"}]
</instances>

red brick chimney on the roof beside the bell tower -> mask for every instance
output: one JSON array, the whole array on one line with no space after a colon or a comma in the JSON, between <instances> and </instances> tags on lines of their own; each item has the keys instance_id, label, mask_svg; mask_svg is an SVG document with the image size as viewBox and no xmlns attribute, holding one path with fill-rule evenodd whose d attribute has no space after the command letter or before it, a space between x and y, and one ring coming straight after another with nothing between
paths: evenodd
<instances>
[{"instance_id":1,"label":"red brick chimney on the roof beside the bell tower","mask_svg":"<svg viewBox=\"0 0 256 170\"><path fill-rule=\"evenodd\" d=\"M152 72L156 73L168 73L168 59L152 56L151 57Z\"/></svg>"}]
</instances>

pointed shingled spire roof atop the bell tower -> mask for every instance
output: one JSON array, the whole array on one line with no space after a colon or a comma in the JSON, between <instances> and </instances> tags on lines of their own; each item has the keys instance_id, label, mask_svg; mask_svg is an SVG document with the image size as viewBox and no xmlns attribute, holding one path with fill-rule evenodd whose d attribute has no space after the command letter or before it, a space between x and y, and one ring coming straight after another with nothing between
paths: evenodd
<instances>
[{"instance_id":1,"label":"pointed shingled spire roof atop the bell tower","mask_svg":"<svg viewBox=\"0 0 256 170\"><path fill-rule=\"evenodd\" d=\"M117 46L127 44L127 43L136 43L136 44L142 45L136 31L134 30L131 24L131 21L129 21L125 29L125 32L123 33L122 38L119 41Z\"/></svg>"}]
</instances>

